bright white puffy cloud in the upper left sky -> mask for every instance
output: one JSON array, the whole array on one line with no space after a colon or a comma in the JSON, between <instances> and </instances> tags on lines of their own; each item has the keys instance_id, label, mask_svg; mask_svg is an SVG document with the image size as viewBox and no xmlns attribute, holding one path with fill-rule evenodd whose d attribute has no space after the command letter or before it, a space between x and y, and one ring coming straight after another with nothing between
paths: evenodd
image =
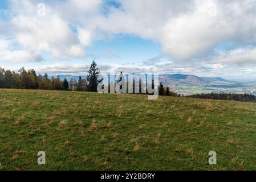
<instances>
[{"instance_id":1,"label":"bright white puffy cloud in the upper left sky","mask_svg":"<svg viewBox=\"0 0 256 182\"><path fill-rule=\"evenodd\" d=\"M19 15L13 19L19 44L32 51L47 51L54 57L83 56L82 47L70 27L58 17Z\"/></svg>"}]
</instances>

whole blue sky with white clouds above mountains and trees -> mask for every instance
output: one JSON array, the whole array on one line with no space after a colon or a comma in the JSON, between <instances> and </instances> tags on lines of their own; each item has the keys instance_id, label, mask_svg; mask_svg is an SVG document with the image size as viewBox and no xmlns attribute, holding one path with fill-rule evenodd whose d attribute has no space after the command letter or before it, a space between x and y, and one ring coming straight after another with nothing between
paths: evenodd
<instances>
[{"instance_id":1,"label":"whole blue sky with white clouds above mountains and trees","mask_svg":"<svg viewBox=\"0 0 256 182\"><path fill-rule=\"evenodd\" d=\"M256 0L1 0L0 67L256 80Z\"/></svg>"}]
</instances>

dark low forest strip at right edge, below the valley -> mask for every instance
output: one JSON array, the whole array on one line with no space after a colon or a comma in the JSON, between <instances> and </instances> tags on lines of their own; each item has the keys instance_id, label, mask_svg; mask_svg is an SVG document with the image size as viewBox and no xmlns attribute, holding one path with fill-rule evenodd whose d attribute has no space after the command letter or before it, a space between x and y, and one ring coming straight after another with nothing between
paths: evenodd
<instances>
[{"instance_id":1,"label":"dark low forest strip at right edge, below the valley","mask_svg":"<svg viewBox=\"0 0 256 182\"><path fill-rule=\"evenodd\" d=\"M256 101L256 98L253 94L235 94L235 93L206 93L206 94L194 94L193 98L206 98L206 99L214 99L214 100L229 100L229 101L243 101L243 102L253 102Z\"/></svg>"}]
</instances>

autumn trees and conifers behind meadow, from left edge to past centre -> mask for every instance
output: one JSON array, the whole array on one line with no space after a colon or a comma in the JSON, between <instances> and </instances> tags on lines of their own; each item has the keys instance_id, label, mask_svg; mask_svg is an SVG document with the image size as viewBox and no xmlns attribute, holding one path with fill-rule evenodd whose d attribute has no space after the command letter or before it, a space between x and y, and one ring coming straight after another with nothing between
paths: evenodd
<instances>
[{"instance_id":1,"label":"autumn trees and conifers behind meadow, from left edge to past centre","mask_svg":"<svg viewBox=\"0 0 256 182\"><path fill-rule=\"evenodd\" d=\"M0 68L0 88L10 88L10 89L41 89L41 90L70 90L70 91L82 91L82 92L97 92L98 84L103 81L103 78L99 80L100 69L97 68L95 61L92 61L90 69L88 70L88 75L86 79L82 79L79 76L79 80L71 79L67 81L60 80L58 77L49 77L47 73L44 75L37 74L34 69L29 69L26 71L25 68L19 69L18 73L11 72L9 69L5 70ZM114 83L108 83L108 88L111 84L119 84L123 79L123 73L120 73L118 80ZM147 83L146 83L147 84ZM154 81L152 80L152 89L155 88ZM143 94L143 88L141 88L141 80L139 83L139 94ZM122 88L120 88L122 89ZM127 83L128 89L128 83ZM135 83L133 82L133 93L135 93ZM169 90L168 86L164 86L162 82L159 85L159 95L160 96L180 96ZM109 90L110 93L110 90ZM128 93L128 92L127 92ZM148 94L146 91L145 94Z\"/></svg>"}]
</instances>

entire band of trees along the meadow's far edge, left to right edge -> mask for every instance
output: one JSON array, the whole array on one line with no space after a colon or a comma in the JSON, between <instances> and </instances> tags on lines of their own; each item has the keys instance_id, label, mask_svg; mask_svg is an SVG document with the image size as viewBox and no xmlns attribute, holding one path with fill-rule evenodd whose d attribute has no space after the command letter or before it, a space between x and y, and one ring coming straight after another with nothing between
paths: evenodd
<instances>
[{"instance_id":1,"label":"entire band of trees along the meadow's far edge, left to right edge","mask_svg":"<svg viewBox=\"0 0 256 182\"><path fill-rule=\"evenodd\" d=\"M26 71L25 68L19 69L18 73L11 72L9 69L5 70L0 67L0 88L10 88L10 89L42 89L42 90L69 90L69 91L80 91L80 92L97 92L98 84L103 81L103 78L99 80L100 69L97 68L95 61L92 61L90 69L88 70L88 75L86 79L83 79L79 76L79 80L71 79L67 81L60 80L58 77L51 77L45 73L44 75L37 74L34 69L29 69ZM124 79L123 73L121 72L119 78L115 82L108 82L108 89L112 86L116 86ZM110 80L110 79L109 79ZM149 83L145 83L146 85ZM149 94L148 90L143 90L142 85L145 85L139 81L139 93L137 94ZM154 80L150 83L152 89L155 88ZM104 85L103 85L104 86ZM127 89L128 93L128 82L125 83L125 90ZM147 86L146 86L147 87ZM122 89L122 85L120 85ZM164 86L162 82L158 86L159 96L172 96L172 97L181 97L181 94L172 92L169 89L169 86ZM110 90L109 90L110 93ZM135 92L135 81L133 80L133 92ZM183 95L182 95L183 97ZM191 96L193 98L205 98L205 99L214 99L214 100L234 100L234 101L244 101L251 102L256 101L256 98L253 94L234 94L234 93L202 93L194 94Z\"/></svg>"}]
</instances>

